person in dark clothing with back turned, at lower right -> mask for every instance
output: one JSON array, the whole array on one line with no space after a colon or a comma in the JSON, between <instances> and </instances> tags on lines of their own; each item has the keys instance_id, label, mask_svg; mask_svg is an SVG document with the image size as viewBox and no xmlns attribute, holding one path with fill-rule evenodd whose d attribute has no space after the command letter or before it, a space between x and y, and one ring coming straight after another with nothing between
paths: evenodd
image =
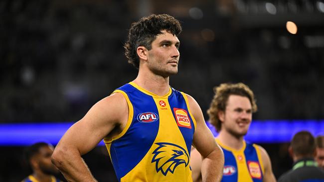
<instances>
[{"instance_id":1,"label":"person in dark clothing with back turned, at lower right","mask_svg":"<svg viewBox=\"0 0 324 182\"><path fill-rule=\"evenodd\" d=\"M294 160L293 169L283 174L278 182L324 182L324 170L314 160L315 138L310 132L296 133L289 153Z\"/></svg>"}]
</instances>

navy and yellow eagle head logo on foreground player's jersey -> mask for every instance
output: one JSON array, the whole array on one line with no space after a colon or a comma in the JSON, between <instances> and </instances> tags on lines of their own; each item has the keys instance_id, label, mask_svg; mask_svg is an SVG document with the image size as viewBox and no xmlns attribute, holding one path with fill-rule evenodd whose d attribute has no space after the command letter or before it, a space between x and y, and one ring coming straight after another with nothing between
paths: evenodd
<instances>
[{"instance_id":1,"label":"navy and yellow eagle head logo on foreground player's jersey","mask_svg":"<svg viewBox=\"0 0 324 182\"><path fill-rule=\"evenodd\" d=\"M178 165L187 166L189 164L189 156L182 147L166 142L155 144L158 145L158 148L152 153L154 154L152 163L156 163L157 173L161 171L166 176L168 172L173 174Z\"/></svg>"}]
</instances>

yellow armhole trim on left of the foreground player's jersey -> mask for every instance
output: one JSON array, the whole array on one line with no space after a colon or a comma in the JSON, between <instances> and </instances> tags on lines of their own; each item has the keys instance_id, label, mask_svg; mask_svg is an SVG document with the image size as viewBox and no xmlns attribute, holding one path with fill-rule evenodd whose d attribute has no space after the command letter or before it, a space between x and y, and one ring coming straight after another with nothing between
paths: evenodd
<instances>
[{"instance_id":1,"label":"yellow armhole trim on left of the foreground player's jersey","mask_svg":"<svg viewBox=\"0 0 324 182\"><path fill-rule=\"evenodd\" d=\"M112 143L114 140L117 140L117 139L121 138L122 136L124 136L124 134L128 131L129 127L131 126L133 116L134 116L133 104L130 101L127 93L125 91L121 91L121 90L115 90L113 93L121 93L124 95L124 97L127 101L127 104L128 104L128 111L129 111L128 112L128 120L127 120L124 130L120 134L114 136L112 139L106 139L106 138L104 139L104 143L106 143L106 144Z\"/></svg>"}]
</instances>

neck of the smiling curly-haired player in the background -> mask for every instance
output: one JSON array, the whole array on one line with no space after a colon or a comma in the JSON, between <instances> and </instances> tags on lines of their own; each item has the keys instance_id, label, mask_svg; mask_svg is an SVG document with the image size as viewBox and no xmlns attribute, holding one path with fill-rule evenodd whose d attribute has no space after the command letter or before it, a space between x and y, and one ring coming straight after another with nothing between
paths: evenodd
<instances>
[{"instance_id":1,"label":"neck of the smiling curly-haired player in the background","mask_svg":"<svg viewBox=\"0 0 324 182\"><path fill-rule=\"evenodd\" d=\"M221 130L217 138L223 145L232 149L240 150L243 147L243 136L236 137L225 130Z\"/></svg>"}]
</instances>

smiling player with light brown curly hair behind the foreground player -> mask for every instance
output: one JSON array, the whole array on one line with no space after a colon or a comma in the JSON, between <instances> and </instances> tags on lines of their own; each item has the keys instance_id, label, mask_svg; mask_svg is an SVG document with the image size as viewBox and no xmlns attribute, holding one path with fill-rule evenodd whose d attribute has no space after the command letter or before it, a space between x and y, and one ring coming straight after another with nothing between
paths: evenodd
<instances>
[{"instance_id":1,"label":"smiling player with light brown curly hair behind the foreground player","mask_svg":"<svg viewBox=\"0 0 324 182\"><path fill-rule=\"evenodd\" d=\"M270 158L264 148L244 141L257 111L253 91L248 86L221 84L207 113L209 122L219 132L217 143L224 152L225 164L222 182L275 182ZM200 154L191 152L193 180L200 181Z\"/></svg>"}]
</instances>

